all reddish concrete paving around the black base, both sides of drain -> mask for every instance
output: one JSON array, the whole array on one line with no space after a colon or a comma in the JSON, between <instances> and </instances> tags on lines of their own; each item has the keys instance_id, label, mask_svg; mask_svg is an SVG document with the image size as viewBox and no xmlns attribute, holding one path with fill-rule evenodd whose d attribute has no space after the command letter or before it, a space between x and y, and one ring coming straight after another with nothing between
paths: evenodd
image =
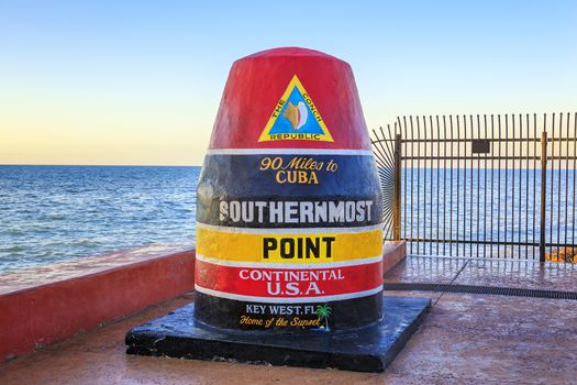
<instances>
[{"instance_id":1,"label":"all reddish concrete paving around the black base, both sides of drain","mask_svg":"<svg viewBox=\"0 0 577 385\"><path fill-rule=\"evenodd\" d=\"M577 268L531 262L408 257L386 282L576 290ZM575 384L577 301L430 292L423 326L381 374L129 356L133 326L192 295L0 364L0 384Z\"/></svg>"}]
</instances>

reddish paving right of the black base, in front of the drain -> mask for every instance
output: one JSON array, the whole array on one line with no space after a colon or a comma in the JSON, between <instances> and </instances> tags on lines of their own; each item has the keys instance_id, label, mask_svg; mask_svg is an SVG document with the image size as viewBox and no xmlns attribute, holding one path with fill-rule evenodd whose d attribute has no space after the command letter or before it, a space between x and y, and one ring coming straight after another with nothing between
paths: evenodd
<instances>
[{"instance_id":1,"label":"reddish paving right of the black base, in front of the drain","mask_svg":"<svg viewBox=\"0 0 577 385\"><path fill-rule=\"evenodd\" d=\"M572 384L577 304L444 294L386 378L433 384Z\"/></svg>"}]
</instances>

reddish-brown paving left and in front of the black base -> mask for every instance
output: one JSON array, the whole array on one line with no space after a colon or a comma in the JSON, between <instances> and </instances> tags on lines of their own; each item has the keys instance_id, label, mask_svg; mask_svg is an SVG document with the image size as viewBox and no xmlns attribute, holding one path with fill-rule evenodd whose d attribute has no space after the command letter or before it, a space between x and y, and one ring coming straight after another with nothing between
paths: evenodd
<instances>
[{"instance_id":1,"label":"reddish-brown paving left and in front of the black base","mask_svg":"<svg viewBox=\"0 0 577 385\"><path fill-rule=\"evenodd\" d=\"M254 366L126 355L131 328L181 307L187 295L95 331L77 334L34 354L0 364L0 384L332 384L336 371ZM343 384L374 384L375 375L339 372Z\"/></svg>"}]
</instances>

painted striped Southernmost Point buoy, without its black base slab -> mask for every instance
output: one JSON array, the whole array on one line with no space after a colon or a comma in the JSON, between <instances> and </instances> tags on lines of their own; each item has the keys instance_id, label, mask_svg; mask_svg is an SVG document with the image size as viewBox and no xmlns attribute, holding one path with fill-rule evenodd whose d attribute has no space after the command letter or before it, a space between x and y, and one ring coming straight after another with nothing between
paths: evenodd
<instances>
[{"instance_id":1,"label":"painted striped Southernmost Point buoy, without its black base slab","mask_svg":"<svg viewBox=\"0 0 577 385\"><path fill-rule=\"evenodd\" d=\"M328 331L381 318L381 194L346 63L301 48L237 61L198 186L198 320Z\"/></svg>"}]
</instances>

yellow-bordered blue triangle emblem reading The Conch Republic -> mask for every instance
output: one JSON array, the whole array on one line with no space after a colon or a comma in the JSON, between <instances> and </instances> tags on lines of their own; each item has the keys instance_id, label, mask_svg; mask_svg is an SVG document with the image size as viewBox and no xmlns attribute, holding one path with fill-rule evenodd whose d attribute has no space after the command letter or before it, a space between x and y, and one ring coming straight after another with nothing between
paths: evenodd
<instances>
[{"instance_id":1,"label":"yellow-bordered blue triangle emblem reading The Conch Republic","mask_svg":"<svg viewBox=\"0 0 577 385\"><path fill-rule=\"evenodd\" d=\"M334 142L297 75L290 80L258 138L258 142L269 141Z\"/></svg>"}]
</instances>

